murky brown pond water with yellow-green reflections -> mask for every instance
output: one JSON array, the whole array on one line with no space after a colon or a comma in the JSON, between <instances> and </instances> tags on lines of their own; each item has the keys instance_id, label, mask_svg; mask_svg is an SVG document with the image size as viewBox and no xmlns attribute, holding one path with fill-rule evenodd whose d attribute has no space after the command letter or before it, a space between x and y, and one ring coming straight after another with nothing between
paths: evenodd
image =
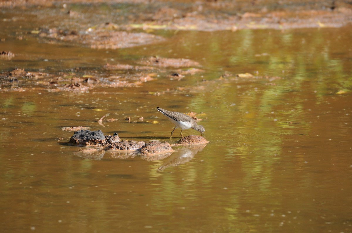
<instances>
[{"instance_id":1,"label":"murky brown pond water with yellow-green reflections","mask_svg":"<svg viewBox=\"0 0 352 233\"><path fill-rule=\"evenodd\" d=\"M18 40L30 25L1 24L1 45L16 54L3 71L101 74L152 55L204 70L180 81L157 72L131 88L1 92L1 232L352 232L351 28L153 31L167 40L95 50ZM261 78L220 78L246 72ZM157 106L202 112L210 143L155 161L89 158L61 131L169 141ZM105 114L116 121L98 124Z\"/></svg>"}]
</instances>

